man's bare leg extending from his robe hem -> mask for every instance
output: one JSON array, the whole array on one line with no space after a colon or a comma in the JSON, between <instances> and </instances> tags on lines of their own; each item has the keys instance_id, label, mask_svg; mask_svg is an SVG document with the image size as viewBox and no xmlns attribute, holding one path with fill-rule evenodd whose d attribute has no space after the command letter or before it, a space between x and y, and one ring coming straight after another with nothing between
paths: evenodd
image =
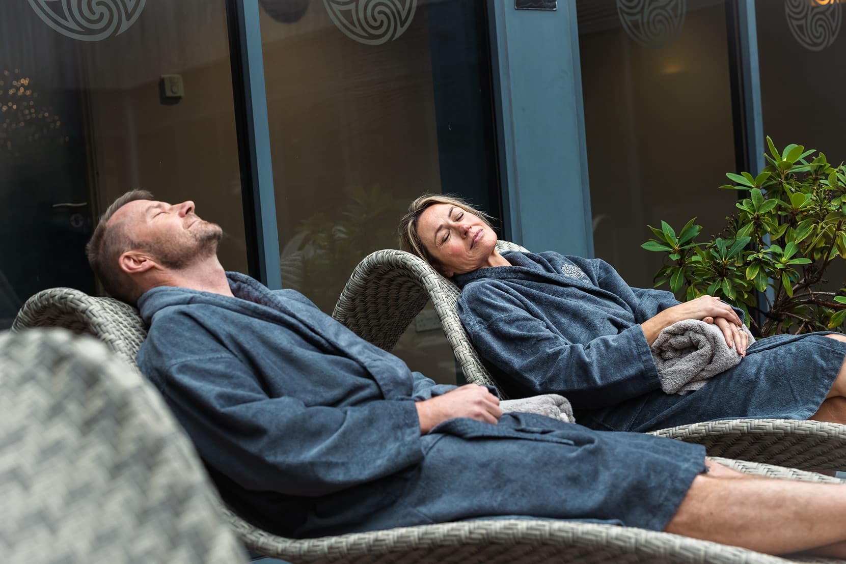
<instances>
[{"instance_id":1,"label":"man's bare leg extending from his robe hem","mask_svg":"<svg viewBox=\"0 0 846 564\"><path fill-rule=\"evenodd\" d=\"M846 485L738 475L709 463L665 529L770 554L846 555ZM778 534L773 534L778 531Z\"/></svg>"}]
</instances>

